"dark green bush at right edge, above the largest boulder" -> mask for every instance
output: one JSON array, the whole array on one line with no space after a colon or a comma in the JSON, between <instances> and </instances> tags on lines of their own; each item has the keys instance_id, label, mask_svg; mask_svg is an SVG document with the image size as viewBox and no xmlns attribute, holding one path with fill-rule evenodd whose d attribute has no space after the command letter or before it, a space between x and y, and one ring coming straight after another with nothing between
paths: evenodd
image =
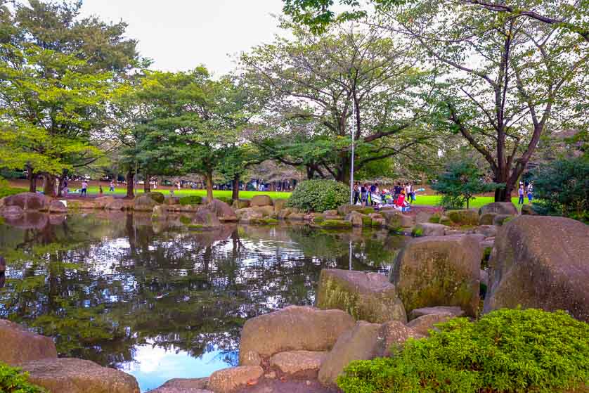
<instances>
[{"instance_id":1,"label":"dark green bush at right edge, above the largest boulder","mask_svg":"<svg viewBox=\"0 0 589 393\"><path fill-rule=\"evenodd\" d=\"M534 210L589 223L589 155L561 158L533 171Z\"/></svg>"}]
</instances>

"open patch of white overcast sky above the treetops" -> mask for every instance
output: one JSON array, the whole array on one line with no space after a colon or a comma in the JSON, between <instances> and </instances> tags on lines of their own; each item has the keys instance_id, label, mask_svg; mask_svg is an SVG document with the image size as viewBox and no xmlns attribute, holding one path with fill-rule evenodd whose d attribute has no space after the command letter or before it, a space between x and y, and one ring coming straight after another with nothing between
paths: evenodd
<instances>
[{"instance_id":1,"label":"open patch of white overcast sky above the treetops","mask_svg":"<svg viewBox=\"0 0 589 393\"><path fill-rule=\"evenodd\" d=\"M280 32L271 14L281 0L84 0L83 15L124 20L154 69L190 70L203 64L214 75L233 69L229 55L272 41Z\"/></svg>"}]
</instances>

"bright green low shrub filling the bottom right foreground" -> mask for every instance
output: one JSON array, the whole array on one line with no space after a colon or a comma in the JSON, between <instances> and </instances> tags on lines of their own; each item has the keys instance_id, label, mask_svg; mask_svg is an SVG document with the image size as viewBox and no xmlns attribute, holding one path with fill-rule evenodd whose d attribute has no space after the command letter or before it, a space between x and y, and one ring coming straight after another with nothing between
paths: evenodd
<instances>
[{"instance_id":1,"label":"bright green low shrub filling the bottom right foreground","mask_svg":"<svg viewBox=\"0 0 589 393\"><path fill-rule=\"evenodd\" d=\"M552 393L589 382L589 325L564 311L502 309L454 318L394 356L354 361L345 393Z\"/></svg>"}]
</instances>

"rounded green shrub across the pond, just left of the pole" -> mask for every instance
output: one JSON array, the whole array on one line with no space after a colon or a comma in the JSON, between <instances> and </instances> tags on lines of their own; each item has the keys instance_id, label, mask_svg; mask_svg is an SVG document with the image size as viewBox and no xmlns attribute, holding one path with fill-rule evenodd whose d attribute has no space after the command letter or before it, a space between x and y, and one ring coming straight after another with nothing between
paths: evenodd
<instances>
[{"instance_id":1,"label":"rounded green shrub across the pond, just left of the pole","mask_svg":"<svg viewBox=\"0 0 589 393\"><path fill-rule=\"evenodd\" d=\"M335 210L349 200L350 189L344 183L333 180L306 180L294 189L287 207L296 207L305 212L325 212Z\"/></svg>"}]
</instances>

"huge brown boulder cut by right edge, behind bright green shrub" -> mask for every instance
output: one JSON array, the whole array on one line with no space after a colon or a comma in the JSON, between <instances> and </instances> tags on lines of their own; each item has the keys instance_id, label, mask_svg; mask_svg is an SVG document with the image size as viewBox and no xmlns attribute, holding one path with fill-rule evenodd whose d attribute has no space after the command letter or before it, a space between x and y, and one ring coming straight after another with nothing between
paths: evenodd
<instances>
[{"instance_id":1,"label":"huge brown boulder cut by right edge, behind bright green shrub","mask_svg":"<svg viewBox=\"0 0 589 393\"><path fill-rule=\"evenodd\" d=\"M489 261L484 312L564 309L589 322L589 226L563 217L521 216L501 228Z\"/></svg>"}]
</instances>

